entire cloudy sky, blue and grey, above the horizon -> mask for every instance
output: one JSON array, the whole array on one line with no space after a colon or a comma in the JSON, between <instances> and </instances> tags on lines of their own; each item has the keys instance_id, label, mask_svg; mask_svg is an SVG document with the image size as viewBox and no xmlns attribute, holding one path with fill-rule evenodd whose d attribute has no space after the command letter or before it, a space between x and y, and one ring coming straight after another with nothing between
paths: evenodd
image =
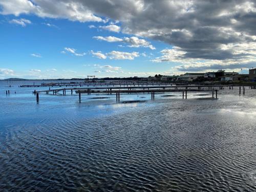
<instances>
[{"instance_id":1,"label":"entire cloudy sky, blue and grey, above the horizon","mask_svg":"<svg viewBox=\"0 0 256 192\"><path fill-rule=\"evenodd\" d=\"M256 67L246 0L1 0L0 79Z\"/></svg>"}]
</instances>

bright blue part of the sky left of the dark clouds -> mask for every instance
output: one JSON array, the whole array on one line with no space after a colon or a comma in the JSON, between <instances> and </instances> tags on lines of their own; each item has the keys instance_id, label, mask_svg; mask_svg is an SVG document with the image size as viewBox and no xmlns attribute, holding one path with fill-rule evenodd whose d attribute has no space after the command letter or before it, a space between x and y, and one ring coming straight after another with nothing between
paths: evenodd
<instances>
[{"instance_id":1,"label":"bright blue part of the sky left of the dark clouds","mask_svg":"<svg viewBox=\"0 0 256 192\"><path fill-rule=\"evenodd\" d=\"M26 19L31 23L16 24L13 19ZM22 78L84 78L87 75L98 77L130 77L149 76L163 73L169 70L170 63L151 61L160 51L170 45L163 42L146 41L156 49L131 46L124 42L108 42L97 40L95 36L115 36L118 38L133 37L133 35L121 32L112 32L99 28L108 26L111 20L105 24L96 22L80 23L68 19L40 18L34 15L0 15L1 40L5 45L1 51L0 63L2 69L13 70L14 74L6 74L4 77ZM92 28L92 25L95 26ZM120 24L115 24L119 26ZM90 26L90 27L89 27ZM75 49L75 54L65 50ZM63 53L63 51L65 53ZM103 54L112 51L125 53L137 52L133 59L100 59L92 54L92 51ZM111 66L111 67L104 67ZM116 67L116 68L115 68Z\"/></svg>"}]
</instances>

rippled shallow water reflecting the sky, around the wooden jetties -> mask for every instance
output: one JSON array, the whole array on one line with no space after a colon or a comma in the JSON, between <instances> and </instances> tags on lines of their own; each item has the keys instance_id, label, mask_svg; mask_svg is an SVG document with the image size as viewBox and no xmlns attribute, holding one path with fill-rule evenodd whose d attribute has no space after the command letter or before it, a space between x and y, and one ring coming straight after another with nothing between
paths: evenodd
<instances>
[{"instance_id":1,"label":"rippled shallow water reflecting the sky, around the wooden jetties","mask_svg":"<svg viewBox=\"0 0 256 192\"><path fill-rule=\"evenodd\" d=\"M1 191L256 190L256 90L36 103L33 82L0 81Z\"/></svg>"}]
</instances>

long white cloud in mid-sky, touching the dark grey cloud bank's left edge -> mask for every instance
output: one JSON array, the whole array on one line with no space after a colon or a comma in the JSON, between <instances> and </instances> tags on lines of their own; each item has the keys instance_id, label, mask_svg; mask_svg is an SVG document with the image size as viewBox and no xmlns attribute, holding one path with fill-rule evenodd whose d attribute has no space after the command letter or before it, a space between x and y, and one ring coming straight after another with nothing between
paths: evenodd
<instances>
[{"instance_id":1,"label":"long white cloud in mid-sky, touching the dark grey cloud bank's left edge","mask_svg":"<svg viewBox=\"0 0 256 192\"><path fill-rule=\"evenodd\" d=\"M124 42L126 44L130 44L127 47L145 47L145 48L150 48L152 50L156 49L154 46L151 45L150 42L146 41L145 39L139 39L138 37L118 38L114 36L108 36L108 37L94 36L93 38L97 40L108 41L108 42ZM123 46L120 45L119 47L123 47Z\"/></svg>"}]
</instances>

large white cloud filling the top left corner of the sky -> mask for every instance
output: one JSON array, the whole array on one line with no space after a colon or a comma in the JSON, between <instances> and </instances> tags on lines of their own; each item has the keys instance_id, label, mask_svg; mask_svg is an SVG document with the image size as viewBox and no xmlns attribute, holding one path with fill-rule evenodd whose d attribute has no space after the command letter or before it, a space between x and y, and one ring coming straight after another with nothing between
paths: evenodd
<instances>
[{"instance_id":1,"label":"large white cloud filling the top left corner of the sky","mask_svg":"<svg viewBox=\"0 0 256 192\"><path fill-rule=\"evenodd\" d=\"M33 4L34 3L34 4ZM104 22L98 16L95 16L86 5L81 2L64 1L40 1L34 0L1 0L1 14L35 14L39 17L67 18L69 20L78 20L79 22Z\"/></svg>"}]
</instances>

